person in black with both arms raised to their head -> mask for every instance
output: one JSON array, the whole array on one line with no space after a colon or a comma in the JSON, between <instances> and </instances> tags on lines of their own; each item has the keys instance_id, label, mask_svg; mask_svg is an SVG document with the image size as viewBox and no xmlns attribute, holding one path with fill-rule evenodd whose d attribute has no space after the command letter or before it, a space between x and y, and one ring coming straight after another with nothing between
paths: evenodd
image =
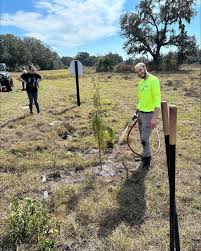
<instances>
[{"instance_id":1,"label":"person in black with both arms raised to their head","mask_svg":"<svg viewBox=\"0 0 201 251\"><path fill-rule=\"evenodd\" d=\"M26 91L29 97L29 109L30 114L33 114L33 101L36 106L37 112L40 112L38 104L38 82L42 80L43 77L40 76L37 69L33 65L29 65L28 73L23 73L20 77L26 82Z\"/></svg>"}]
</instances>

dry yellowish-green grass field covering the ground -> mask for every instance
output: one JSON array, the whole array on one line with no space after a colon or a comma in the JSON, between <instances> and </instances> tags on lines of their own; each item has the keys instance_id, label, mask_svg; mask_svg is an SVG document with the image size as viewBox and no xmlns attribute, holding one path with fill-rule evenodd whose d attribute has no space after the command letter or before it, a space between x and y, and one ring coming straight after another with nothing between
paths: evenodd
<instances>
[{"instance_id":1,"label":"dry yellowish-green grass field covering the ground","mask_svg":"<svg viewBox=\"0 0 201 251\"><path fill-rule=\"evenodd\" d=\"M95 73L79 79L68 70L41 71L41 113L29 115L26 92L13 73L13 92L0 93L0 250L14 198L43 200L60 231L54 250L168 251L169 190L162 131L161 152L149 171L137 168L127 145L117 145L135 110L134 74ZM182 251L201 250L200 66L157 73L162 100L178 107L176 201ZM116 132L100 168L91 118L94 83L100 86L104 122ZM35 108L35 107L34 107ZM127 172L122 161L128 167ZM46 175L45 183L41 177ZM35 250L21 243L19 250Z\"/></svg>"}]
</instances>

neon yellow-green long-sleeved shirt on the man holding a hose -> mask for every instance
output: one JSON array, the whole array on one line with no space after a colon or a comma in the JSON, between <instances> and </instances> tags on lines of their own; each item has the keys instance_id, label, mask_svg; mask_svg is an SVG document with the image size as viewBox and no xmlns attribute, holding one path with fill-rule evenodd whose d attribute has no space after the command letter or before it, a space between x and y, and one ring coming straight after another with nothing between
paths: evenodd
<instances>
[{"instance_id":1,"label":"neon yellow-green long-sleeved shirt on the man holding a hose","mask_svg":"<svg viewBox=\"0 0 201 251\"><path fill-rule=\"evenodd\" d=\"M157 77L150 74L147 79L138 83L138 105L142 112L153 112L161 107L160 82Z\"/></svg>"}]
</instances>

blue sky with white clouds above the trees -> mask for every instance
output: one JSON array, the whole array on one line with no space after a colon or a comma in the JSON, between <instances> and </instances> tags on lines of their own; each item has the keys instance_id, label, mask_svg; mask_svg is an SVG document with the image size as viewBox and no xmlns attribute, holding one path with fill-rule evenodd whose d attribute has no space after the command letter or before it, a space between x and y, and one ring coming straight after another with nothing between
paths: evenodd
<instances>
[{"instance_id":1,"label":"blue sky with white clouds above the trees","mask_svg":"<svg viewBox=\"0 0 201 251\"><path fill-rule=\"evenodd\" d=\"M126 54L120 16L134 12L140 0L0 0L0 34L40 39L60 57L88 52ZM201 0L197 15L187 25L201 43Z\"/></svg>"}]
</instances>

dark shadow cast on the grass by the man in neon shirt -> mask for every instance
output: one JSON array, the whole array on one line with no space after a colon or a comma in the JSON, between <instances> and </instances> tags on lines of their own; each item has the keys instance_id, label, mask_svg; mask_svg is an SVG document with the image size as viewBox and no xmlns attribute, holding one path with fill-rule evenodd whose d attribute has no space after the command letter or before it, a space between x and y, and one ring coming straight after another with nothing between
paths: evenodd
<instances>
[{"instance_id":1,"label":"dark shadow cast on the grass by the man in neon shirt","mask_svg":"<svg viewBox=\"0 0 201 251\"><path fill-rule=\"evenodd\" d=\"M108 236L122 222L140 226L146 210L144 180L148 170L138 168L122 185L117 201L119 208L107 209L98 231L99 237Z\"/></svg>"}]
</instances>

